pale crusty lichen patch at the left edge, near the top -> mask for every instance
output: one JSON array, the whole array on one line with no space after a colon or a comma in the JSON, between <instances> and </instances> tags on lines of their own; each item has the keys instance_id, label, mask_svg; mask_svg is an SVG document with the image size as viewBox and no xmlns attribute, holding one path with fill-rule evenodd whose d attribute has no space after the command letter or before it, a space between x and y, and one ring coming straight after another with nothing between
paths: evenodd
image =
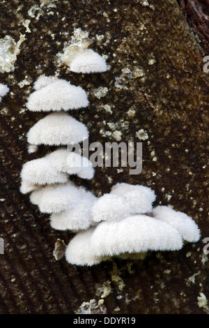
<instances>
[{"instance_id":1,"label":"pale crusty lichen patch at the left edge, near the top","mask_svg":"<svg viewBox=\"0 0 209 328\"><path fill-rule=\"evenodd\" d=\"M0 72L8 73L15 70L15 61L20 54L20 45L26 40L24 34L20 34L20 39L15 43L11 36L0 39Z\"/></svg>"}]
</instances>

